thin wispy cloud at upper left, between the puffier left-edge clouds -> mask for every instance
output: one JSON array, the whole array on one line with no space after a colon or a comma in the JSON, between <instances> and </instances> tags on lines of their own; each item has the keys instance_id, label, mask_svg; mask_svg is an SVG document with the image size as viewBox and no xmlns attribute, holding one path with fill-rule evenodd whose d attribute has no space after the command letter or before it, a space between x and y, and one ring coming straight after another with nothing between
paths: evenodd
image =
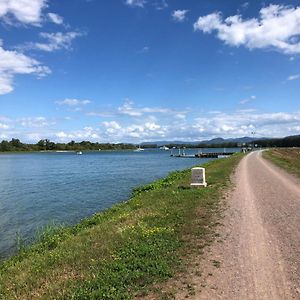
<instances>
[{"instance_id":1,"label":"thin wispy cloud at upper left, between the puffier left-edge clouds","mask_svg":"<svg viewBox=\"0 0 300 300\"><path fill-rule=\"evenodd\" d=\"M20 46L20 49L30 50L41 50L46 52L53 52L60 49L70 50L72 42L75 38L83 36L82 32L56 32L47 33L41 32L40 36L46 40L45 43L26 43Z\"/></svg>"}]
</instances>

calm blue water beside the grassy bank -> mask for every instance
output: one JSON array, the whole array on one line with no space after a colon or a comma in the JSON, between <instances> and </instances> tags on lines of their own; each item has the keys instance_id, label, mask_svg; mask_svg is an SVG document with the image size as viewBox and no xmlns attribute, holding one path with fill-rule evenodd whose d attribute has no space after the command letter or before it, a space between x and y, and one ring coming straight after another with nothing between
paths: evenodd
<instances>
[{"instance_id":1,"label":"calm blue water beside the grassy bank","mask_svg":"<svg viewBox=\"0 0 300 300\"><path fill-rule=\"evenodd\" d=\"M128 199L138 185L206 161L162 150L1 154L0 259L15 251L17 233L31 241L50 222L73 224Z\"/></svg>"}]
</instances>

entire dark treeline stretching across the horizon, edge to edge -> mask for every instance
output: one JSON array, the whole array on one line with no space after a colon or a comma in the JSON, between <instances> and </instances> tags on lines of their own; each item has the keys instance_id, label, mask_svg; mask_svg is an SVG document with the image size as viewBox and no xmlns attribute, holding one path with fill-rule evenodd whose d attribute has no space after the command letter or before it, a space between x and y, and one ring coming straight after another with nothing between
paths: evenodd
<instances>
[{"instance_id":1,"label":"entire dark treeline stretching across the horizon, edge to edge","mask_svg":"<svg viewBox=\"0 0 300 300\"><path fill-rule=\"evenodd\" d=\"M288 136L276 139L261 139L247 143L247 146L257 145L258 147L300 147L300 135ZM141 144L142 148L159 148L157 144ZM193 144L167 144L168 148L235 148L244 145L237 142L224 142L218 144L193 143ZM130 150L136 149L136 145L129 143L92 143L89 141L69 143L54 143L48 139L40 140L36 144L22 143L19 139L11 141L3 140L0 143L0 152L18 152L18 151L98 151L98 150Z\"/></svg>"}]
</instances>

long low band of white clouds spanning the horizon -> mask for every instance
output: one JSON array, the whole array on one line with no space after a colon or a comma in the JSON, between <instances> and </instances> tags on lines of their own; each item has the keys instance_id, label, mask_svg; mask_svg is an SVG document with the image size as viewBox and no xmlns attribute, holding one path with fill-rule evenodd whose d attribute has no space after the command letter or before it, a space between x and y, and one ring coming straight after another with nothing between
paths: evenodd
<instances>
[{"instance_id":1,"label":"long low band of white clouds spanning the horizon","mask_svg":"<svg viewBox=\"0 0 300 300\"><path fill-rule=\"evenodd\" d=\"M237 110L231 113L220 111L193 112L194 118L178 119L176 115L165 118L145 116L130 119L115 118L98 126L82 129L62 129L63 119L31 117L12 120L0 116L0 138L20 138L22 141L37 141L49 138L54 141L92 140L99 142L132 142L157 140L201 141L216 137L233 138L250 136L283 137L300 134L300 111L262 113L254 109ZM32 128L32 129L31 129ZM51 129L51 130L50 130ZM39 138L34 138L39 137Z\"/></svg>"}]
</instances>

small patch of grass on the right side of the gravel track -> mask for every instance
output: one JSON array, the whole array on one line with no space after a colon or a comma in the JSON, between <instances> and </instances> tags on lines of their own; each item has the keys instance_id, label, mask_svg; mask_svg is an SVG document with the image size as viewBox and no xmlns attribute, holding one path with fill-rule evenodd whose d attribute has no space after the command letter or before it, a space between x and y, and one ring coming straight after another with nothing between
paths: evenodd
<instances>
[{"instance_id":1,"label":"small patch of grass on the right side of the gravel track","mask_svg":"<svg viewBox=\"0 0 300 300\"><path fill-rule=\"evenodd\" d=\"M263 157L300 177L300 148L274 148L264 151Z\"/></svg>"}]
</instances>

